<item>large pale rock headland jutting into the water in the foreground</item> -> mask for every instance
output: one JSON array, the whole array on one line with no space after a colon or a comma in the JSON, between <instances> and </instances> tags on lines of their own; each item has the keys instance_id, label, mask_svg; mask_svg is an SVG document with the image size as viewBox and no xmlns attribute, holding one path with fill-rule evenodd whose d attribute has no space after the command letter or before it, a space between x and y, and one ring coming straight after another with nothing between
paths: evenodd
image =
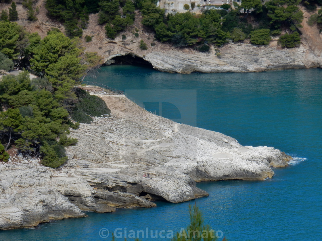
<instances>
[{"instance_id":1,"label":"large pale rock headland jutting into the water in the foreground","mask_svg":"<svg viewBox=\"0 0 322 241\"><path fill-rule=\"evenodd\" d=\"M71 130L60 169L37 160L0 163L0 229L31 227L82 211L154 207L208 195L195 182L263 180L288 156L273 147L243 147L218 132L153 115L124 95L100 96L112 116ZM144 177L144 174L149 177Z\"/></svg>"}]
</instances>

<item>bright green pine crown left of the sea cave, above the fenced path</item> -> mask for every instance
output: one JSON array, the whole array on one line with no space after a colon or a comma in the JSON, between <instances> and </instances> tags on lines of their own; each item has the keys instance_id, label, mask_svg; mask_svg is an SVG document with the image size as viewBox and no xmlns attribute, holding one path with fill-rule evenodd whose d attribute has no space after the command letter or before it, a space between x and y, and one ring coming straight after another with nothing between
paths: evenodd
<instances>
[{"instance_id":1,"label":"bright green pine crown left of the sea cave, above the fenced path","mask_svg":"<svg viewBox=\"0 0 322 241\"><path fill-rule=\"evenodd\" d=\"M49 76L55 97L61 103L75 99L72 88L84 75L81 64L82 49L78 39L69 39L63 33L53 31L33 48L31 68Z\"/></svg>"}]
</instances>

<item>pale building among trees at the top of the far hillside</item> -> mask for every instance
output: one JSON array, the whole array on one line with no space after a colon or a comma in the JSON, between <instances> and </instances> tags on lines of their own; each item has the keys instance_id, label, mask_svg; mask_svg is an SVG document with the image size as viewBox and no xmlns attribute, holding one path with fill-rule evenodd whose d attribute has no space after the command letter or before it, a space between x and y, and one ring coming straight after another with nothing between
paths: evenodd
<instances>
[{"instance_id":1,"label":"pale building among trees at the top of the far hillside","mask_svg":"<svg viewBox=\"0 0 322 241\"><path fill-rule=\"evenodd\" d=\"M201 7L204 5L222 5L222 4L232 4L232 2L241 3L242 0L159 0L157 6L160 8L165 8L166 12L179 12L184 13L187 10L184 8L185 4L189 5L191 9L191 3L195 3L194 11L198 12L200 10L197 6Z\"/></svg>"}]
</instances>

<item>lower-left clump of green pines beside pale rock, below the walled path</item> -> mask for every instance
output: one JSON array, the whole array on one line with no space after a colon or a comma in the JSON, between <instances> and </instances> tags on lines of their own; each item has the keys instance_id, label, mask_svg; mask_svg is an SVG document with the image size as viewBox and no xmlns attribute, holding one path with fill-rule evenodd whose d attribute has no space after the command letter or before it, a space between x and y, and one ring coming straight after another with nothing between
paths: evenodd
<instances>
[{"instance_id":1,"label":"lower-left clump of green pines beside pale rock, below the walled path","mask_svg":"<svg viewBox=\"0 0 322 241\"><path fill-rule=\"evenodd\" d=\"M42 155L48 166L57 167L66 157L52 151L52 146L59 145L55 139L73 125L52 93L34 83L28 72L5 76L0 82L2 108L7 109L0 112L0 133L8 137L6 148L15 136L20 151Z\"/></svg>"}]
</instances>

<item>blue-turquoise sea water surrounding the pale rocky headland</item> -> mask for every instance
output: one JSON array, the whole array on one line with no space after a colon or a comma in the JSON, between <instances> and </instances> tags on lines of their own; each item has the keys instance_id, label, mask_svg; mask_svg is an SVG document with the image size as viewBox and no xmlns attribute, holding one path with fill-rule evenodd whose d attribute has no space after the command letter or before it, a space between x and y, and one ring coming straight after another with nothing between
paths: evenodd
<instances>
[{"instance_id":1,"label":"blue-turquoise sea water surrounding the pale rocky headland","mask_svg":"<svg viewBox=\"0 0 322 241\"><path fill-rule=\"evenodd\" d=\"M322 240L321 69L181 75L108 66L97 79L87 80L125 90L156 114L222 132L242 145L273 146L297 157L288 167L274 169L269 180L199 183L209 197L195 202L205 223L230 241ZM121 228L123 237L125 230L128 235L146 228L176 232L188 225L193 203L88 213L36 229L0 231L0 240L110 240L110 235L99 236L102 228Z\"/></svg>"}]
</instances>

